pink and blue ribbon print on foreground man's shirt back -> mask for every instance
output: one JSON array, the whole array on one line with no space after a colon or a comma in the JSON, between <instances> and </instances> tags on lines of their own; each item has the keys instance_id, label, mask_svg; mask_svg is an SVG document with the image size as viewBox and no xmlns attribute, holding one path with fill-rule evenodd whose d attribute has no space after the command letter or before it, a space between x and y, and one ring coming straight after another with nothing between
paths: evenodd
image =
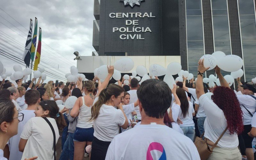
<instances>
[{"instance_id":1,"label":"pink and blue ribbon print on foreground man's shirt back","mask_svg":"<svg viewBox=\"0 0 256 160\"><path fill-rule=\"evenodd\" d=\"M158 150L158 151L162 152L162 155L160 156L159 160L166 160L166 154L164 151L164 147L162 144L160 144L158 142L152 142L149 144L148 151L147 151L147 160L155 160L156 159L156 157L153 158L151 155L152 150Z\"/></svg>"}]
</instances>

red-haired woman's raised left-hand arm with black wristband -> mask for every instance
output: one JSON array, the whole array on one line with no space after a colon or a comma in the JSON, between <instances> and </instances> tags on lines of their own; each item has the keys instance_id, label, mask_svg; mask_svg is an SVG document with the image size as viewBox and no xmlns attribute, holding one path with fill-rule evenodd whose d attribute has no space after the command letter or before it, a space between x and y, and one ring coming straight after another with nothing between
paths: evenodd
<instances>
[{"instance_id":1,"label":"red-haired woman's raised left-hand arm with black wristband","mask_svg":"<svg viewBox=\"0 0 256 160\"><path fill-rule=\"evenodd\" d=\"M201 95L204 94L204 85L203 85L203 75L204 72L209 69L210 67L205 68L204 67L204 59L201 61L201 59L198 61L198 75L196 80L196 97L199 99Z\"/></svg>"}]
</instances>

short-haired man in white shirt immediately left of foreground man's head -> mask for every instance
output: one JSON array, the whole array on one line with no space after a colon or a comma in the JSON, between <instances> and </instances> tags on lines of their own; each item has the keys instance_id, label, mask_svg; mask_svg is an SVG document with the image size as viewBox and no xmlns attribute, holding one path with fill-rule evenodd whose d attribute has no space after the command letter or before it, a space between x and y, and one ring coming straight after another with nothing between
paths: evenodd
<instances>
[{"instance_id":1,"label":"short-haired man in white shirt immediately left of foreground man's head","mask_svg":"<svg viewBox=\"0 0 256 160\"><path fill-rule=\"evenodd\" d=\"M136 102L138 100L137 90L139 88L139 81L136 78L132 78L131 79L131 83L130 83L130 87L131 87L131 90L128 91L127 93L130 94L130 102L129 102L129 104L132 104L132 103L134 103L134 102ZM141 115L140 115L139 106L136 106L134 109L137 112L138 121L140 122L141 121Z\"/></svg>"}]
</instances>

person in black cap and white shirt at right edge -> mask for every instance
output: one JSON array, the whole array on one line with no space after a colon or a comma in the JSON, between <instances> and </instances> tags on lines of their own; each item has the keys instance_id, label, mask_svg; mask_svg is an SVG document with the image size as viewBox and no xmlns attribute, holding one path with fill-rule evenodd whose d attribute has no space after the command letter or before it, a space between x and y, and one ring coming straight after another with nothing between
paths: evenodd
<instances>
[{"instance_id":1,"label":"person in black cap and white shirt at right edge","mask_svg":"<svg viewBox=\"0 0 256 160\"><path fill-rule=\"evenodd\" d=\"M252 83L247 83L242 85L240 78L236 79L240 91L243 95L237 95L237 99L240 103L240 107L243 111L243 122L244 122L244 131L241 133L242 141L239 141L239 146L245 146L245 153L248 160L253 159L253 150L252 150L252 140L253 138L248 135L248 132L252 129L252 116L256 110L256 85ZM240 137L241 138L241 137Z\"/></svg>"}]
</instances>

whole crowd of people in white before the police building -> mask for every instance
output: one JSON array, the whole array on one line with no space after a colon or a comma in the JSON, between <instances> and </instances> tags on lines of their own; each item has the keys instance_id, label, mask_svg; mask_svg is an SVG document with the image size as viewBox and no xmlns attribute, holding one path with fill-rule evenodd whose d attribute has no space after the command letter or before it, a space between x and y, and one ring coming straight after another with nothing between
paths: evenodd
<instances>
[{"instance_id":1,"label":"whole crowd of people in white before the police building","mask_svg":"<svg viewBox=\"0 0 256 160\"><path fill-rule=\"evenodd\" d=\"M197 80L183 77L173 89L158 77L109 84L113 66L103 82L3 80L0 160L55 160L60 137L60 160L200 160L196 136L212 152L205 159L256 159L256 85L237 78L234 91L216 66L221 86L209 88L207 69L199 60ZM56 102L65 105L71 96L73 108L60 110Z\"/></svg>"}]
</instances>

